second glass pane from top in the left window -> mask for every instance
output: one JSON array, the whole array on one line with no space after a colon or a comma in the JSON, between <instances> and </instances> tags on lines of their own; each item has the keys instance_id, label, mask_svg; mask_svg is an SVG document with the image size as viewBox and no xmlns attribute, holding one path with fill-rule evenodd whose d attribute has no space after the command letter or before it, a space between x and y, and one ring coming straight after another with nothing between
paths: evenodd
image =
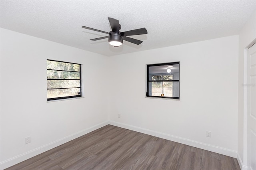
<instances>
[{"instance_id":1,"label":"second glass pane from top in the left window","mask_svg":"<svg viewBox=\"0 0 256 170\"><path fill-rule=\"evenodd\" d=\"M47 70L47 79L80 79L79 72Z\"/></svg>"}]
</instances>

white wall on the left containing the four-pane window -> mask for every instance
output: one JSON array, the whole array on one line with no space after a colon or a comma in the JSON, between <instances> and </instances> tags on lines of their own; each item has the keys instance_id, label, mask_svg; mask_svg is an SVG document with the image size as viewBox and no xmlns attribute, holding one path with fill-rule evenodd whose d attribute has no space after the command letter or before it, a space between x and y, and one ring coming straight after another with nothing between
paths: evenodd
<instances>
[{"instance_id":1,"label":"white wall on the left containing the four-pane window","mask_svg":"<svg viewBox=\"0 0 256 170\"><path fill-rule=\"evenodd\" d=\"M84 98L47 102L46 59L82 64ZM107 62L1 28L1 169L107 125ZM25 145L27 136L31 143Z\"/></svg>"}]
</instances>

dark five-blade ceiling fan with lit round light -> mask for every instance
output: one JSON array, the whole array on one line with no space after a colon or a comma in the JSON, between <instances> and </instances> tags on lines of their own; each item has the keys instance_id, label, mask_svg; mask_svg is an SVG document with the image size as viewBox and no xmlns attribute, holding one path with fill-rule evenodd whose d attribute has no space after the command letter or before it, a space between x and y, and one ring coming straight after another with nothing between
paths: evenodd
<instances>
[{"instance_id":1,"label":"dark five-blade ceiling fan with lit round light","mask_svg":"<svg viewBox=\"0 0 256 170\"><path fill-rule=\"evenodd\" d=\"M126 32L120 32L119 30L121 29L121 25L119 24L119 21L114 18L109 18L109 17L108 17L108 20L109 20L109 23L110 23L110 26L112 29L112 31L110 31L110 32L96 30L94 28L89 28L86 26L82 26L82 28L108 34L108 36L106 36L106 37L94 38L91 40L97 41L97 40L102 40L102 39L108 38L109 44L113 45L114 47L118 47L118 46L122 45L123 40L139 45L140 43L142 43L142 41L136 40L134 38L130 38L127 36L148 34L146 28L140 28L140 29L130 30L130 31L126 31Z\"/></svg>"}]
</instances>

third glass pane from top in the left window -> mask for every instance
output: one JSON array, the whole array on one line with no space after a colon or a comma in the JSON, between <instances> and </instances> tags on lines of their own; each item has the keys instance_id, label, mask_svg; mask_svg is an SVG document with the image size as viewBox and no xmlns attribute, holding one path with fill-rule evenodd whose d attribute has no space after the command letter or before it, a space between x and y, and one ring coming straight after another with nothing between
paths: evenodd
<instances>
[{"instance_id":1,"label":"third glass pane from top in the left window","mask_svg":"<svg viewBox=\"0 0 256 170\"><path fill-rule=\"evenodd\" d=\"M80 80L47 80L47 89L80 87Z\"/></svg>"}]
</instances>

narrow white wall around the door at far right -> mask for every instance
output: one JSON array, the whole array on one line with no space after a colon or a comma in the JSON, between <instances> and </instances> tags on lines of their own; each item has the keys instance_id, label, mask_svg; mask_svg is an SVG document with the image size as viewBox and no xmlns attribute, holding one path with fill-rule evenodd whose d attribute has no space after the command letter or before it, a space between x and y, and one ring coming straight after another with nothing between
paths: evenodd
<instances>
[{"instance_id":1,"label":"narrow white wall around the door at far right","mask_svg":"<svg viewBox=\"0 0 256 170\"><path fill-rule=\"evenodd\" d=\"M246 95L246 87L243 86L244 81L244 65L247 63L244 60L247 58L248 45L256 42L256 11L250 17L242 28L239 34L239 65L238 65L238 162L243 169L247 166L247 113L244 111L247 106L244 106L244 95ZM244 93L245 91L245 93Z\"/></svg>"}]
</instances>

